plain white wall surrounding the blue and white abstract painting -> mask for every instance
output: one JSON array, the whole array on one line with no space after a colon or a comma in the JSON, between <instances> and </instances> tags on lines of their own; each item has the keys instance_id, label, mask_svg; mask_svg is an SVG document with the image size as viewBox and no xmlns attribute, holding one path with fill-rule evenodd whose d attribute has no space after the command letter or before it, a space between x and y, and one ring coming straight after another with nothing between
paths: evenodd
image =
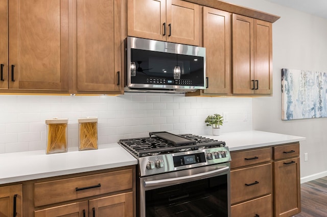
<instances>
[{"instance_id":1,"label":"plain white wall surrounding the blue and white abstract painting","mask_svg":"<svg viewBox=\"0 0 327 217\"><path fill-rule=\"evenodd\" d=\"M327 72L327 20L264 0L228 2L281 16L273 23L273 97L253 98L253 129L306 137L301 182L326 176L327 118L282 121L281 69Z\"/></svg>"}]
</instances>

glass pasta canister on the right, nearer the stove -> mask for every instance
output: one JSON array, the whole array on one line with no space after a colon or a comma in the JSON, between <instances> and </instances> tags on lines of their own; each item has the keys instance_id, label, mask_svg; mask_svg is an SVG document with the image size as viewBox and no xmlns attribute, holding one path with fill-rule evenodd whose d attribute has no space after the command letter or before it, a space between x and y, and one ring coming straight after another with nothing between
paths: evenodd
<instances>
[{"instance_id":1,"label":"glass pasta canister on the right, nearer the stove","mask_svg":"<svg viewBox=\"0 0 327 217\"><path fill-rule=\"evenodd\" d=\"M78 150L98 149L98 118L78 119Z\"/></svg>"}]
</instances>

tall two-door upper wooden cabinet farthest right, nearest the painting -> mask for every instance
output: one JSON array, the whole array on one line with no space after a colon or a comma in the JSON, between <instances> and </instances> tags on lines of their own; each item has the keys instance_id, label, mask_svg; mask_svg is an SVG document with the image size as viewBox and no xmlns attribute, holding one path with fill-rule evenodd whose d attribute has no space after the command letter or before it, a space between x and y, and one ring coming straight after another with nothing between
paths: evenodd
<instances>
[{"instance_id":1,"label":"tall two-door upper wooden cabinet farthest right, nearest the painting","mask_svg":"<svg viewBox=\"0 0 327 217\"><path fill-rule=\"evenodd\" d=\"M272 24L232 15L232 93L272 94Z\"/></svg>"}]
</instances>

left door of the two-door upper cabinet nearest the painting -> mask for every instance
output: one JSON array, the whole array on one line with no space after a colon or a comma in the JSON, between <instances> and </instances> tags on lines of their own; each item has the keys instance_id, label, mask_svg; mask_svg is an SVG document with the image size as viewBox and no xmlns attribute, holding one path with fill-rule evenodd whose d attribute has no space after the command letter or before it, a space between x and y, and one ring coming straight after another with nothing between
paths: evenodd
<instances>
[{"instance_id":1,"label":"left door of the two-door upper cabinet nearest the painting","mask_svg":"<svg viewBox=\"0 0 327 217\"><path fill-rule=\"evenodd\" d=\"M232 15L233 94L253 94L253 18Z\"/></svg>"}]
</instances>

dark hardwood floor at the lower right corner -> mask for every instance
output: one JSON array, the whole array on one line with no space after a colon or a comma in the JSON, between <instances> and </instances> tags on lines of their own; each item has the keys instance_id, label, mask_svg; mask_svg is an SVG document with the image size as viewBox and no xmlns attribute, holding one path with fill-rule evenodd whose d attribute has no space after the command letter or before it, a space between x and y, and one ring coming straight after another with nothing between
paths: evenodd
<instances>
[{"instance_id":1,"label":"dark hardwood floor at the lower right corner","mask_svg":"<svg viewBox=\"0 0 327 217\"><path fill-rule=\"evenodd\" d=\"M327 176L301 184L301 212L295 217L327 216Z\"/></svg>"}]
</instances>

